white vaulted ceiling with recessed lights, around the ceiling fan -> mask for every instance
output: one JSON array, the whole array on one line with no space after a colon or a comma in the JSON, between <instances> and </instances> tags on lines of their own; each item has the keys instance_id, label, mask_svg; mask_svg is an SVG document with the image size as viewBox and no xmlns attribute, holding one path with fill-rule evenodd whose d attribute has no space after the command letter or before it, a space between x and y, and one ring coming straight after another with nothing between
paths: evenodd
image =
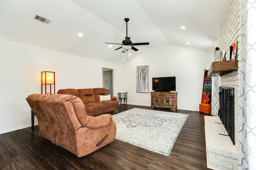
<instances>
[{"instance_id":1,"label":"white vaulted ceiling with recessed lights, around the ceiling fan","mask_svg":"<svg viewBox=\"0 0 256 170\"><path fill-rule=\"evenodd\" d=\"M121 45L149 42L128 50L128 59L167 44L204 51L218 46L231 0L0 0L0 37L124 64ZM34 15L50 20L47 25ZM186 29L181 29L185 26ZM82 37L78 33L83 33ZM186 43L190 44L186 44Z\"/></svg>"}]
</instances>

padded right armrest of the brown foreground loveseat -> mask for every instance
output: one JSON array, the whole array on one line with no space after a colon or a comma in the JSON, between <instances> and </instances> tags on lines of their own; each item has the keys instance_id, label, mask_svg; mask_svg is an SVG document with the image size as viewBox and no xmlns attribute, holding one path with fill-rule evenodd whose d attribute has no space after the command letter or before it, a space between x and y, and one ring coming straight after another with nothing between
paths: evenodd
<instances>
[{"instance_id":1,"label":"padded right armrest of the brown foreground loveseat","mask_svg":"<svg viewBox=\"0 0 256 170\"><path fill-rule=\"evenodd\" d=\"M89 121L84 127L89 129L104 127L112 121L112 115L110 114L103 114L96 117L88 115L87 117Z\"/></svg>"}]
</instances>

